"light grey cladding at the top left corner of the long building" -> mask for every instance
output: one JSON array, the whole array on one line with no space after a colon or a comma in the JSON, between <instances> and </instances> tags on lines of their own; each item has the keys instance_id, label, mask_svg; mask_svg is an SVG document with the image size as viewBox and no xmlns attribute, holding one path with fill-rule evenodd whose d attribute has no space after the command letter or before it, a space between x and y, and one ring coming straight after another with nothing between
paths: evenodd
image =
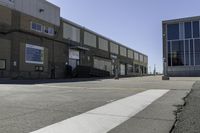
<instances>
[{"instance_id":1,"label":"light grey cladding at the top left corner of the long building","mask_svg":"<svg viewBox=\"0 0 200 133\"><path fill-rule=\"evenodd\" d=\"M54 25L60 25L60 8L46 0L0 0L0 4Z\"/></svg>"}]
</instances>

